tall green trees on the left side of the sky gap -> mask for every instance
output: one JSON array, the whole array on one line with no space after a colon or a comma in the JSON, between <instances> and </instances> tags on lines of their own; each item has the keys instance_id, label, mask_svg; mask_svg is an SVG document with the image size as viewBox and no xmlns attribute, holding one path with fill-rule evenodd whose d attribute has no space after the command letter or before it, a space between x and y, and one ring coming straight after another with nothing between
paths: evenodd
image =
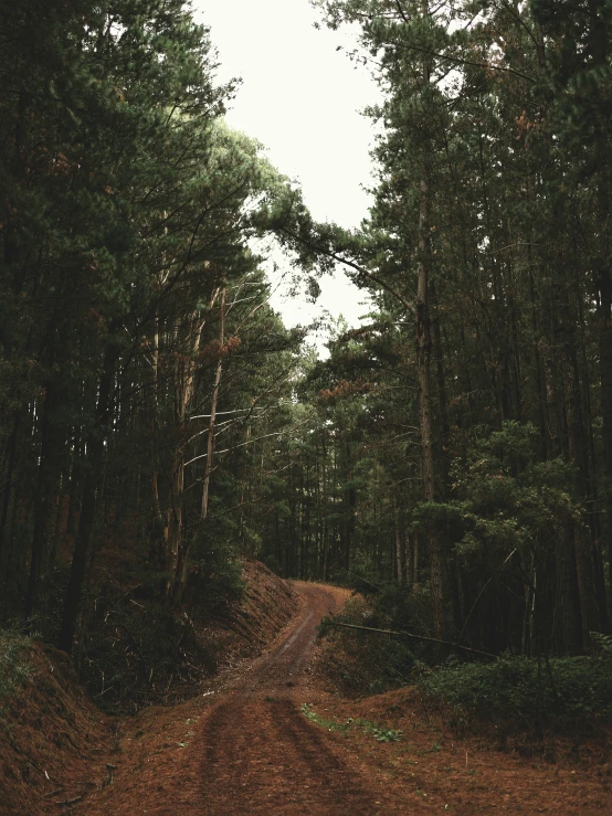
<instances>
[{"instance_id":1,"label":"tall green trees on the left side of the sky gap","mask_svg":"<svg viewBox=\"0 0 612 816\"><path fill-rule=\"evenodd\" d=\"M254 403L287 390L274 367L292 369L302 332L267 305L247 243L268 208L291 205L291 184L222 121L233 85L217 86L189 3L39 6L7 7L0 59L0 616L25 606L70 650L114 541L149 537L141 572L161 579L159 597L178 603L188 575L209 611L240 596L234 553L261 540L229 509L249 504L242 446L265 435ZM228 523L209 513L193 565L200 415L221 361L233 420L215 458L231 456L207 487Z\"/></svg>"}]
</instances>

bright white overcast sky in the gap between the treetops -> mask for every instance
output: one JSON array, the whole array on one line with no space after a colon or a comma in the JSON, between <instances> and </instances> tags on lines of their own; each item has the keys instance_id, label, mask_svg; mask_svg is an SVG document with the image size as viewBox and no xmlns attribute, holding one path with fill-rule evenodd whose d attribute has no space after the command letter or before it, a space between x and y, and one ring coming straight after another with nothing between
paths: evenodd
<instances>
[{"instance_id":1,"label":"bright white overcast sky in the gap between the treetops","mask_svg":"<svg viewBox=\"0 0 612 816\"><path fill-rule=\"evenodd\" d=\"M219 52L218 80L241 77L230 127L263 142L272 163L299 181L318 221L358 226L371 184L372 124L360 110L378 100L362 66L347 56L350 32L316 30L308 0L193 0L199 22ZM340 46L339 50L338 46ZM273 306L287 326L309 322L327 309L350 325L367 312L363 295L344 275L321 282L316 306L278 292Z\"/></svg>"}]
</instances>

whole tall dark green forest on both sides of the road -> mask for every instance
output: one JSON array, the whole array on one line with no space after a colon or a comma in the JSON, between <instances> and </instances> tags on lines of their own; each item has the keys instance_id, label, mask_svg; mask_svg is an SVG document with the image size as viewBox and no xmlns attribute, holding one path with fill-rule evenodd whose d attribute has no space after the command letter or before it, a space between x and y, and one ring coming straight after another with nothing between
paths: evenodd
<instances>
[{"instance_id":1,"label":"whole tall dark green forest on both sides of the road","mask_svg":"<svg viewBox=\"0 0 612 816\"><path fill-rule=\"evenodd\" d=\"M183 625L244 559L489 655L611 648L612 3L313 4L383 96L355 230L224 124L183 0L1 3L0 622L94 685L130 603ZM371 299L325 359L281 251Z\"/></svg>"}]
</instances>

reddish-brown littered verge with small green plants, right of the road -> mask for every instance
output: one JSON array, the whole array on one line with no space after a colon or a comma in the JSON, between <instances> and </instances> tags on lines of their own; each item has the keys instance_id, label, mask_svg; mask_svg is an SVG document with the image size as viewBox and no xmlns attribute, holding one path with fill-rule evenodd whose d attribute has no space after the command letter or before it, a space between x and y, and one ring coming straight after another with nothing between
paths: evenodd
<instances>
[{"instance_id":1,"label":"reddish-brown littered verge with small green plants, right of the road","mask_svg":"<svg viewBox=\"0 0 612 816\"><path fill-rule=\"evenodd\" d=\"M577 752L564 755L557 740L541 744L539 754L526 755L519 744L499 750L487 734L457 735L444 712L413 687L361 700L334 695L308 700L312 717L323 717L326 729L341 734L370 769L387 775L405 803L405 809L391 807L390 813L612 813L606 739L582 740Z\"/></svg>"}]
</instances>

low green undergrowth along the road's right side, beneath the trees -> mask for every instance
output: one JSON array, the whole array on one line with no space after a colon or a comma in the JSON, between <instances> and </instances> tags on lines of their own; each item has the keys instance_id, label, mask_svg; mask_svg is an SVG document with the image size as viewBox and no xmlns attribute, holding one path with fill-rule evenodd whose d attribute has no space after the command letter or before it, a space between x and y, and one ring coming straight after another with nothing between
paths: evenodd
<instances>
[{"instance_id":1,"label":"low green undergrowth along the road's right side, beneath the trees","mask_svg":"<svg viewBox=\"0 0 612 816\"><path fill-rule=\"evenodd\" d=\"M536 740L551 731L594 733L612 722L610 636L591 633L593 654L587 656L503 655L487 663L463 663L453 654L440 665L440 653L426 645L334 626L340 622L414 629L415 611L403 600L387 592L373 601L354 596L341 615L321 623L321 671L346 697L415 685L451 728L464 732L493 728L499 735L521 732Z\"/></svg>"}]
</instances>

